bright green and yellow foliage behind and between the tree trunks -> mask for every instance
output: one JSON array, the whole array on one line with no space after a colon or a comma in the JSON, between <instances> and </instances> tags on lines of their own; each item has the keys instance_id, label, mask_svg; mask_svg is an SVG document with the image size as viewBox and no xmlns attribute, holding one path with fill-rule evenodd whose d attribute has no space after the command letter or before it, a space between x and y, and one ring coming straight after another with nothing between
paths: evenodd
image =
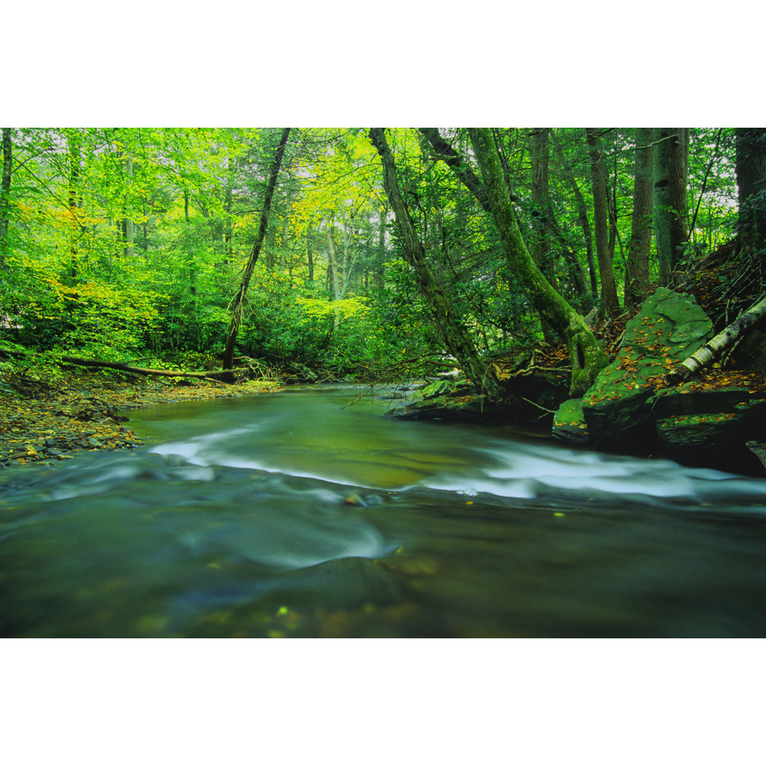
<instances>
[{"instance_id":1,"label":"bright green and yellow foliage behind and between the tree trunks","mask_svg":"<svg viewBox=\"0 0 766 766\"><path fill-rule=\"evenodd\" d=\"M442 135L473 163L463 129ZM737 214L733 130L691 135L689 208L699 201L699 213L686 260L694 264L732 233ZM440 352L434 319L401 258L366 131L294 129L291 136L247 296L241 352L343 374ZM473 342L483 349L535 342L538 322L493 221L417 131L388 136L417 234ZM494 136L522 234L538 236L529 131L496 129ZM214 365L257 230L273 130L21 128L13 141L0 273L8 340L106 359ZM635 131L609 129L603 142L619 282ZM582 129L552 129L549 193L558 234L548 231L545 257L558 289L582 307L588 301L577 293L564 250L588 269L581 219L581 205L586 215L592 209L588 162Z\"/></svg>"}]
</instances>

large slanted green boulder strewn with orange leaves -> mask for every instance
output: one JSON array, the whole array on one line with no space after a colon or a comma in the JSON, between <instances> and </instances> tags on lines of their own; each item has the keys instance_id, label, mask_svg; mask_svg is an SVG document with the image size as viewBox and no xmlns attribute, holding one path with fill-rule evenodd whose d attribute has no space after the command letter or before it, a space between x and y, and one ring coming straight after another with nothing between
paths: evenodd
<instances>
[{"instance_id":1,"label":"large slanted green boulder strewn with orange leaves","mask_svg":"<svg viewBox=\"0 0 766 766\"><path fill-rule=\"evenodd\" d=\"M582 399L591 443L634 447L656 435L647 401L662 377L713 336L712 322L681 293L660 287L627 323L620 352ZM565 434L564 434L565 435Z\"/></svg>"}]
</instances>

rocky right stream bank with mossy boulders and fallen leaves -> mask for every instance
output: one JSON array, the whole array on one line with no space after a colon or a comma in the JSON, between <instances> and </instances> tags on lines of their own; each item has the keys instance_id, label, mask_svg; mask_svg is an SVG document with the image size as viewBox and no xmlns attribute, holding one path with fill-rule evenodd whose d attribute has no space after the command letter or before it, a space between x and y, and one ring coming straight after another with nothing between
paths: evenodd
<instances>
[{"instance_id":1,"label":"rocky right stream bank with mossy boulders and fallen leaves","mask_svg":"<svg viewBox=\"0 0 766 766\"><path fill-rule=\"evenodd\" d=\"M762 323L761 323L762 324ZM489 403L470 381L422 388L391 413L409 420L548 425L559 440L612 453L662 455L689 465L766 474L766 332L756 329L728 359L681 381L676 367L715 329L693 296L660 287L638 311L597 332L611 362L580 398L568 393L563 346L535 358L497 358L506 398Z\"/></svg>"}]
</instances>

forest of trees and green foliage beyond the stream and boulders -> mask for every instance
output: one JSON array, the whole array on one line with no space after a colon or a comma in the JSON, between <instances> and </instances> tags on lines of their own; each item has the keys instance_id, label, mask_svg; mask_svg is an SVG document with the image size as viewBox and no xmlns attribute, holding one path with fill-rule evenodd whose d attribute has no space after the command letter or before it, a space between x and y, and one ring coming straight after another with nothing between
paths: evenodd
<instances>
[{"instance_id":1,"label":"forest of trees and green foliage beyond the stream and boulders","mask_svg":"<svg viewBox=\"0 0 766 766\"><path fill-rule=\"evenodd\" d=\"M577 397L658 287L716 331L763 298L761 128L5 128L2 158L5 394L455 368L502 403L495 362L558 346Z\"/></svg>"}]
</instances>

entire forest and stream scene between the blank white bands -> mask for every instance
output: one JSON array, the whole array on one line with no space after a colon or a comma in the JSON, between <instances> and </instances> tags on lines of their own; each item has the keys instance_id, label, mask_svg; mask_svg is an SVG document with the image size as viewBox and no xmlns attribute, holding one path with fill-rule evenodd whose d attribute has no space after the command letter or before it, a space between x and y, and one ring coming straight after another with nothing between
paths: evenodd
<instances>
[{"instance_id":1,"label":"entire forest and stream scene between the blank white bands","mask_svg":"<svg viewBox=\"0 0 766 766\"><path fill-rule=\"evenodd\" d=\"M0 636L766 633L766 129L2 159Z\"/></svg>"}]
</instances>

